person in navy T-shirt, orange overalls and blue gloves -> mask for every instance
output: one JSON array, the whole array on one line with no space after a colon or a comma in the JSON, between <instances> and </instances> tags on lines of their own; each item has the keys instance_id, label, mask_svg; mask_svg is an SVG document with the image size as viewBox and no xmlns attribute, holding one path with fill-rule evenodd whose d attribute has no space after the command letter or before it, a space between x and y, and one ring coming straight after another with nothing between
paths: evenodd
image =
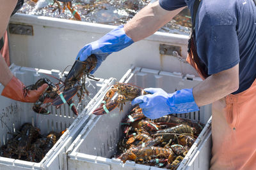
<instances>
[{"instance_id":1,"label":"person in navy T-shirt, orange overalls and blue gloves","mask_svg":"<svg viewBox=\"0 0 256 170\"><path fill-rule=\"evenodd\" d=\"M193 89L168 94L149 88L136 97L148 118L197 111L212 103L211 169L256 169L256 7L253 0L159 0L145 6L127 24L85 45L97 67L112 52L154 34L185 6L193 16L188 62L204 81ZM94 73L97 67L92 71Z\"/></svg>"}]
</instances>

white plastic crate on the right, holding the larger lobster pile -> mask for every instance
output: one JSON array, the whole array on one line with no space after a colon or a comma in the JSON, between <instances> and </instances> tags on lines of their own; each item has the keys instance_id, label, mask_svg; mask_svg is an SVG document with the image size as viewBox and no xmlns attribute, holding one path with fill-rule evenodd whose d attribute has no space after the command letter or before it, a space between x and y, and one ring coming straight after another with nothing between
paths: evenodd
<instances>
[{"instance_id":1,"label":"white plastic crate on the right, holding the larger lobster pile","mask_svg":"<svg viewBox=\"0 0 256 170\"><path fill-rule=\"evenodd\" d=\"M129 69L120 80L120 82L138 85L143 89L159 87L169 93L175 90L194 87L200 81L202 81L200 78L193 75L183 76L180 73L168 73L140 67ZM102 98L95 103L96 105L93 110L100 105L101 101ZM116 152L118 139L122 136L120 122L126 116L125 113L127 113L129 108L131 108L131 103L127 102L122 113L119 112L119 108L116 108L106 115L95 117L90 124L87 124L72 145L70 145L70 148L68 148L67 169L161 169L136 164L134 161L129 160L123 164L120 159L110 159ZM205 124L204 129L178 167L178 169L187 169L189 162L190 167L192 167L191 164L193 162L190 160L195 155L205 136L210 133L211 105L200 107L200 111L179 114L177 117L200 120L200 122ZM210 153L207 152L205 154L209 155ZM203 161L206 165L205 167L209 167L209 160L205 159ZM202 163L202 160L199 163Z\"/></svg>"}]
</instances>

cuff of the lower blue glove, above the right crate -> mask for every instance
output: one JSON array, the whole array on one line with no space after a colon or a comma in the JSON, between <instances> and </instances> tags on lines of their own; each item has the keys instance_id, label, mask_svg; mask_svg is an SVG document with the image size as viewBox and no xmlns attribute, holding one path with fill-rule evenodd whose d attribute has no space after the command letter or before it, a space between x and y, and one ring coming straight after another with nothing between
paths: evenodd
<instances>
[{"instance_id":1,"label":"cuff of the lower blue glove, above the right crate","mask_svg":"<svg viewBox=\"0 0 256 170\"><path fill-rule=\"evenodd\" d=\"M199 110L195 103L193 89L182 89L169 95L167 104L170 106L171 113L189 113Z\"/></svg>"}]
</instances>

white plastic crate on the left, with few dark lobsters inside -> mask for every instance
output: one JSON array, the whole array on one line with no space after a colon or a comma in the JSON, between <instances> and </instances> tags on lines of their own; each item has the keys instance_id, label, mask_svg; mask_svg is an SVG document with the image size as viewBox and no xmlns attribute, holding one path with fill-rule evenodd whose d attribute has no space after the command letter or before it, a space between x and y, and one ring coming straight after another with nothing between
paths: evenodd
<instances>
[{"instance_id":1,"label":"white plastic crate on the left, with few dark lobsters inside","mask_svg":"<svg viewBox=\"0 0 256 170\"><path fill-rule=\"evenodd\" d=\"M35 83L38 79L46 77L56 83L58 80L48 76L51 74L56 78L61 77L58 70L33 69L29 67L10 66L13 74L19 78L26 86ZM44 74L46 73L46 74ZM24 160L9 159L0 157L0 169L63 169L63 154L68 146L76 139L81 129L87 122L91 120L91 116L87 114L97 97L113 83L115 79L109 80L100 79L99 81L86 82L86 89L90 92L88 97L84 97L81 106L79 107L79 116L72 113L68 104L61 105L56 109L55 106L49 106L51 111L49 115L37 114L32 110L32 103L20 103L0 96L0 144L4 145L6 141L12 138L12 133L20 129L20 126L29 122L40 129L42 134L47 134L50 131L61 132L68 128L61 136L57 143L45 155L44 159L39 162L28 162ZM0 84L0 92L3 90L3 85ZM99 93L98 93L99 92Z\"/></svg>"}]
</instances>

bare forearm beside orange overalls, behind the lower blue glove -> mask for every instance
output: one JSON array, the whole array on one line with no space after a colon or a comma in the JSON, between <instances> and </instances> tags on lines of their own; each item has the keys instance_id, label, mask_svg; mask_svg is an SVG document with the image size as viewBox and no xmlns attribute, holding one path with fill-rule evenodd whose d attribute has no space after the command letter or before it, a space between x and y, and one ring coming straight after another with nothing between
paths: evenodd
<instances>
[{"instance_id":1,"label":"bare forearm beside orange overalls, behind the lower blue glove","mask_svg":"<svg viewBox=\"0 0 256 170\"><path fill-rule=\"evenodd\" d=\"M239 87L239 69L237 66L213 74L193 88L197 106L204 106L235 92Z\"/></svg>"}]
</instances>

